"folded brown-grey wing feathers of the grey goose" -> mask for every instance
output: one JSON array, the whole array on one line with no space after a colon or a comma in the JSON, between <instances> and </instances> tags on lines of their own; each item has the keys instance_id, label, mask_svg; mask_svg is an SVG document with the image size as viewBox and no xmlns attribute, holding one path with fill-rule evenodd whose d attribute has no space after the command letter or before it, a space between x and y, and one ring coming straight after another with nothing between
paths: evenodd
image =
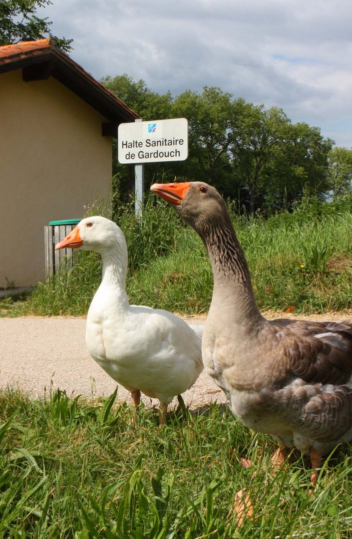
<instances>
[{"instance_id":1,"label":"folded brown-grey wing feathers of the grey goose","mask_svg":"<svg viewBox=\"0 0 352 539\"><path fill-rule=\"evenodd\" d=\"M259 391L257 405L310 439L339 440L352 427L352 323L275 320L285 379Z\"/></svg>"}]
</instances>

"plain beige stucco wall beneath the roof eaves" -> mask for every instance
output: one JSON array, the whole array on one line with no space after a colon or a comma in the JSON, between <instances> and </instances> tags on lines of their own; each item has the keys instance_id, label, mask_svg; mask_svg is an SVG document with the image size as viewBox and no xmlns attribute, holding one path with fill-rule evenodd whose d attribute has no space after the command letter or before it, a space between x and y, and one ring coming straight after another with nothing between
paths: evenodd
<instances>
[{"instance_id":1,"label":"plain beige stucco wall beneath the roof eaves","mask_svg":"<svg viewBox=\"0 0 352 539\"><path fill-rule=\"evenodd\" d=\"M0 287L45 280L44 226L107 197L107 121L53 77L0 74Z\"/></svg>"}]
</instances>

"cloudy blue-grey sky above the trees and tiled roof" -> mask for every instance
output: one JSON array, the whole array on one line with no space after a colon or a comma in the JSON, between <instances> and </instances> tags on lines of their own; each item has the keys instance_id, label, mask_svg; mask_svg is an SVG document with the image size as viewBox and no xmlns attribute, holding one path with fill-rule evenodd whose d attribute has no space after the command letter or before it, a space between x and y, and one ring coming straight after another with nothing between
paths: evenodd
<instances>
[{"instance_id":1,"label":"cloudy blue-grey sky above the trees and tiled roof","mask_svg":"<svg viewBox=\"0 0 352 539\"><path fill-rule=\"evenodd\" d=\"M52 2L37 15L97 80L126 73L173 97L216 86L352 147L350 0Z\"/></svg>"}]
</instances>

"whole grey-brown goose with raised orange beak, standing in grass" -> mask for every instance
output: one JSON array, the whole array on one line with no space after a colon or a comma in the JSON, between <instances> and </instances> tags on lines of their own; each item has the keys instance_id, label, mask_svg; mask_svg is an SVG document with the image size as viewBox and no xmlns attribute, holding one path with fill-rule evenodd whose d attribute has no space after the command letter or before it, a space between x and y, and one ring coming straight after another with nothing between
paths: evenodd
<instances>
[{"instance_id":1,"label":"whole grey-brown goose with raised orange beak, standing in grass","mask_svg":"<svg viewBox=\"0 0 352 539\"><path fill-rule=\"evenodd\" d=\"M352 322L266 320L254 299L244 252L217 190L201 182L154 184L201 236L214 274L203 361L254 431L297 447L319 467L322 454L352 439ZM312 475L316 482L316 472Z\"/></svg>"}]
</instances>

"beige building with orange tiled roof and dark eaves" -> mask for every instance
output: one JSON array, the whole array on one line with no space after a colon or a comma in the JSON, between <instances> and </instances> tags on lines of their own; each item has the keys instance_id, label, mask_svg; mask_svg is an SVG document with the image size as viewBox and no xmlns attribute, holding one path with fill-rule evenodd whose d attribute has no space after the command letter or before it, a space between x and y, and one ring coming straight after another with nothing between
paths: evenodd
<instances>
[{"instance_id":1,"label":"beige building with orange tiled roof and dark eaves","mask_svg":"<svg viewBox=\"0 0 352 539\"><path fill-rule=\"evenodd\" d=\"M54 39L0 47L0 288L45 280L44 226L108 199L112 138L138 118Z\"/></svg>"}]
</instances>

